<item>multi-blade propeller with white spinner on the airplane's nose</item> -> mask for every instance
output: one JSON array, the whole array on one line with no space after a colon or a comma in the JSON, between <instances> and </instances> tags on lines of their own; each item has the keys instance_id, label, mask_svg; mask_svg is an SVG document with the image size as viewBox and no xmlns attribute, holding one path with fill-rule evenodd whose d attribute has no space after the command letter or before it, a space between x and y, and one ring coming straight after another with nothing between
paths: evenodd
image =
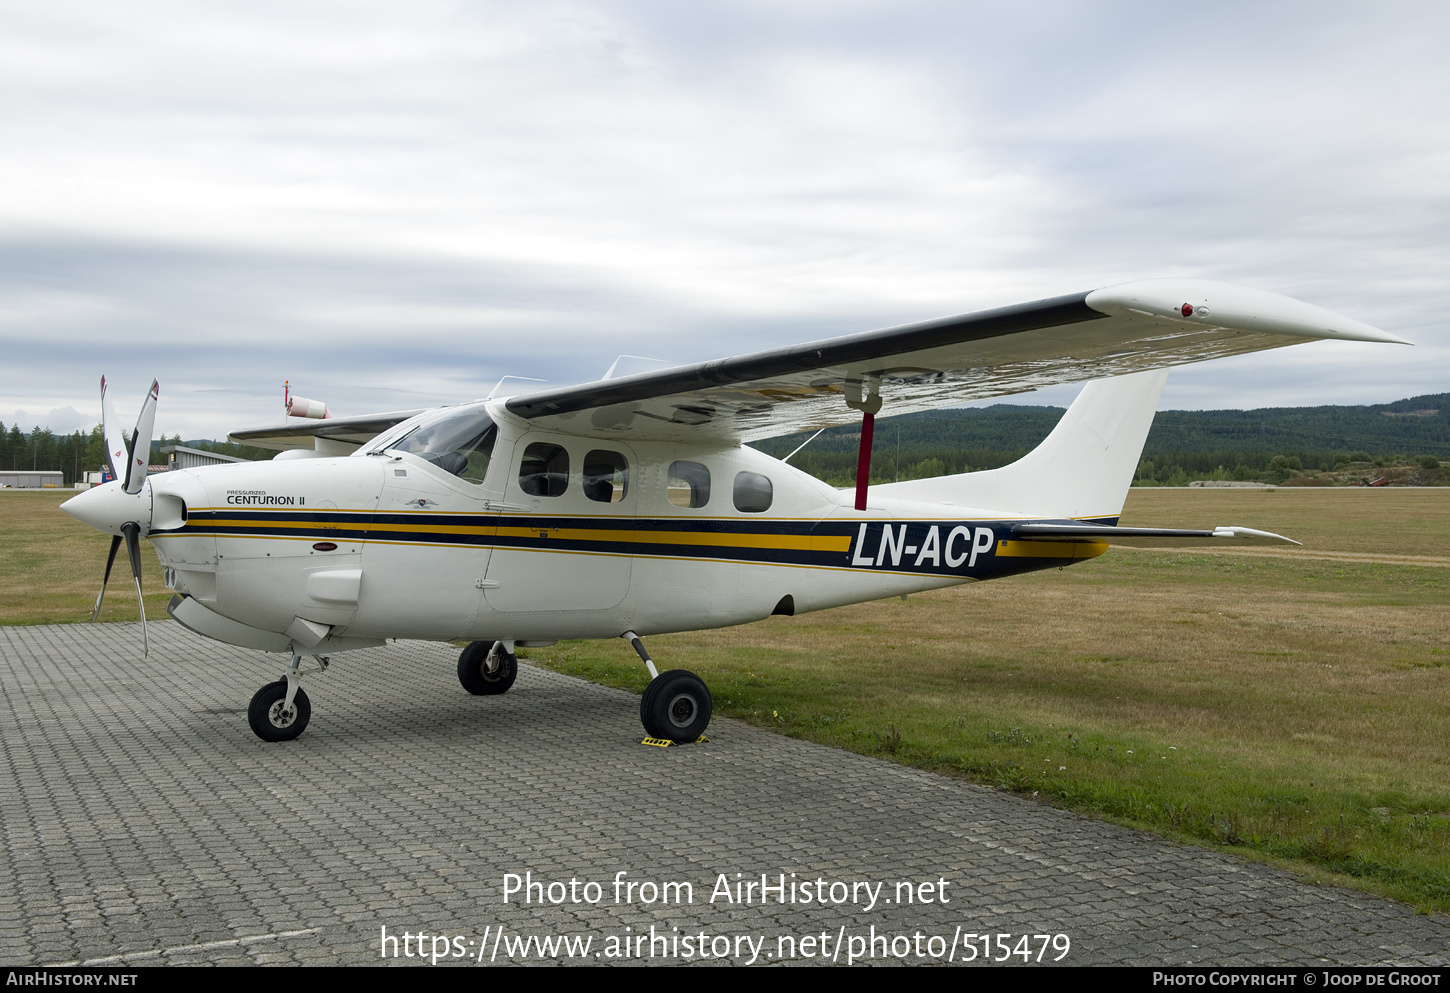
<instances>
[{"instance_id":1,"label":"multi-blade propeller with white spinner on the airplane's nose","mask_svg":"<svg viewBox=\"0 0 1450 993\"><path fill-rule=\"evenodd\" d=\"M142 494L141 491L146 484L151 460L151 429L157 420L158 390L160 384L152 380L151 391L136 416L136 428L128 441L116 420L116 407L106 390L106 377L102 377L102 433L106 438L106 464L116 481L96 490L87 490L64 504L64 509L72 516L112 533L110 554L106 557L106 576L100 581L100 593L96 594L96 606L91 610L93 623L100 618L100 604L106 597L106 584L110 583L110 570L116 564L116 551L123 541L126 542L126 558L130 560L130 576L136 583L136 604L141 610L141 641L146 657L151 655L151 639L146 635L146 602L141 596L141 520L145 520L146 528L149 528L151 493ZM103 491L109 493L103 496ZM117 531L120 533L116 533Z\"/></svg>"}]
</instances>

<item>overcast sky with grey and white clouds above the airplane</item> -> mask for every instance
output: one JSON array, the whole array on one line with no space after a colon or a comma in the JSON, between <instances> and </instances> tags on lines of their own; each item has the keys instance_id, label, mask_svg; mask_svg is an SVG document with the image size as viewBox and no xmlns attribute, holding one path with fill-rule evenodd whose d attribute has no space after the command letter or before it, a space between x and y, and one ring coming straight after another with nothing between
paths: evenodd
<instances>
[{"instance_id":1,"label":"overcast sky with grey and white clouds above the airplane","mask_svg":"<svg viewBox=\"0 0 1450 993\"><path fill-rule=\"evenodd\" d=\"M1450 390L1450 7L0 1L0 422L271 423L1150 275L1415 348L1164 407ZM639 371L635 365L631 371ZM500 393L518 390L503 389ZM1061 402L1058 389L1035 402Z\"/></svg>"}]
</instances>

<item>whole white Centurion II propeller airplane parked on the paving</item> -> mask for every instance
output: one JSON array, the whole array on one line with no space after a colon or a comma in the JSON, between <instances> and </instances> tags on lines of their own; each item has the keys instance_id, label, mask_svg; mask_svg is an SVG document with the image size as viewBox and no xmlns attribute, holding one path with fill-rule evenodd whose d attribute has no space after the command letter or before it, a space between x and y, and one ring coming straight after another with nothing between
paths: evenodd
<instances>
[{"instance_id":1,"label":"whole white Centurion II propeller airplane parked on the paving","mask_svg":"<svg viewBox=\"0 0 1450 993\"><path fill-rule=\"evenodd\" d=\"M624 638L651 677L645 741L690 742L709 725L709 687L658 671L644 636L1072 565L1112 544L1290 541L1118 519L1169 367L1318 339L1411 344L1263 290L1138 280L426 410L334 417L290 397L306 416L231 435L274 460L155 475L157 384L128 439L102 378L116 481L62 509L113 535L93 620L122 542L141 599L145 536L171 618L290 658L248 707L265 741L303 732L300 680L334 652L468 642L458 681L490 696L513 684L518 648ZM869 486L877 415L1077 381L1019 461ZM856 422L854 490L750 446Z\"/></svg>"}]
</instances>

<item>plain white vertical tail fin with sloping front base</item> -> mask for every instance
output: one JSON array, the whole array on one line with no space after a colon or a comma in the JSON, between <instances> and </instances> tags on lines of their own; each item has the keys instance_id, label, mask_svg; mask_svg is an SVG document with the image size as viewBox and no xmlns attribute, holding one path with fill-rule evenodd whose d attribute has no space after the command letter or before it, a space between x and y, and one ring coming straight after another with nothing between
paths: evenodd
<instances>
[{"instance_id":1,"label":"plain white vertical tail fin with sloping front base","mask_svg":"<svg viewBox=\"0 0 1450 993\"><path fill-rule=\"evenodd\" d=\"M1116 519L1167 375L1148 370L1089 383L1053 433L1011 465L873 486L871 496L1008 516Z\"/></svg>"}]
</instances>

